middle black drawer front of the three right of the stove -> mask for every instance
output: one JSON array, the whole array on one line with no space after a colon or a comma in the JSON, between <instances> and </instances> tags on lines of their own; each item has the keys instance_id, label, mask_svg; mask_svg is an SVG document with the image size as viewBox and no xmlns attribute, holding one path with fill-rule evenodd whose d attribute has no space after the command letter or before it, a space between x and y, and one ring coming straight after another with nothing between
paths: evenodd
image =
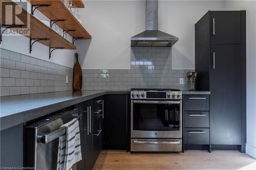
<instances>
[{"instance_id":1,"label":"middle black drawer front of the three right of the stove","mask_svg":"<svg viewBox=\"0 0 256 170\"><path fill-rule=\"evenodd\" d=\"M184 111L184 128L209 128L209 112Z\"/></svg>"}]
</instances>

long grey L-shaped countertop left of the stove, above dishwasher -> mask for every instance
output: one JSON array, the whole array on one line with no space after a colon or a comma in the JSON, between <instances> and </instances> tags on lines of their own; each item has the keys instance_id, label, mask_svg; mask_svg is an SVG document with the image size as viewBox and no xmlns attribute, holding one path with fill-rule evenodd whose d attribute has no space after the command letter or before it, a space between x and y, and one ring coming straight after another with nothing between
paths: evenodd
<instances>
[{"instance_id":1,"label":"long grey L-shaped countertop left of the stove, above dishwasher","mask_svg":"<svg viewBox=\"0 0 256 170\"><path fill-rule=\"evenodd\" d=\"M4 130L103 94L129 93L130 91L81 90L2 96L0 128Z\"/></svg>"}]
</instances>

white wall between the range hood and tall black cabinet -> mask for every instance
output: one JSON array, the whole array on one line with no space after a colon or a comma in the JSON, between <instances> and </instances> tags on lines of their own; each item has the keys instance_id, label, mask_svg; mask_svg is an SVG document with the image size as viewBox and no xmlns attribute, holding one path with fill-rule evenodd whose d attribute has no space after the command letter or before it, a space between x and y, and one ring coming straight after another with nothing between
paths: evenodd
<instances>
[{"instance_id":1,"label":"white wall between the range hood and tall black cabinet","mask_svg":"<svg viewBox=\"0 0 256 170\"><path fill-rule=\"evenodd\" d=\"M195 23L223 1L159 1L159 30L179 37L172 47L173 69L195 69Z\"/></svg>"}]
</instances>

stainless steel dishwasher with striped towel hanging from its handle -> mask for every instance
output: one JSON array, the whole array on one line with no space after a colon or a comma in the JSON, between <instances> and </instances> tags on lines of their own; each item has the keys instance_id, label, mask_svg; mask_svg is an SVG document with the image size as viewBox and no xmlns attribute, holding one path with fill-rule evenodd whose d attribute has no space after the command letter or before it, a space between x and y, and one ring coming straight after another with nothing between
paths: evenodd
<instances>
[{"instance_id":1,"label":"stainless steel dishwasher with striped towel hanging from its handle","mask_svg":"<svg viewBox=\"0 0 256 170\"><path fill-rule=\"evenodd\" d=\"M66 133L66 128L60 127L73 118L80 120L78 108L57 112L25 127L26 167L36 170L56 169L59 136Z\"/></svg>"}]
</instances>

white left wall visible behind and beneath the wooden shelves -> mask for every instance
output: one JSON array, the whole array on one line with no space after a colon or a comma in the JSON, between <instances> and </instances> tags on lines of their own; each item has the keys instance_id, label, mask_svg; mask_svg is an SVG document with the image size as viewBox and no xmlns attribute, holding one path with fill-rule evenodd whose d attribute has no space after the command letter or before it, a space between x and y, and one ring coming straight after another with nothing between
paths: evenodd
<instances>
[{"instance_id":1,"label":"white left wall visible behind and beneath the wooden shelves","mask_svg":"<svg viewBox=\"0 0 256 170\"><path fill-rule=\"evenodd\" d=\"M28 12L30 12L30 4L28 4ZM35 16L39 19L49 20L37 10ZM69 40L70 37L68 37ZM32 46L32 52L29 53L29 38L25 36L3 36L3 41L0 45L1 48L6 50L14 51L20 54L28 55L38 59L46 60L63 66L73 68L75 62L76 50L55 50L52 53L52 58L49 60L49 47L42 45L38 42Z\"/></svg>"}]
</instances>

